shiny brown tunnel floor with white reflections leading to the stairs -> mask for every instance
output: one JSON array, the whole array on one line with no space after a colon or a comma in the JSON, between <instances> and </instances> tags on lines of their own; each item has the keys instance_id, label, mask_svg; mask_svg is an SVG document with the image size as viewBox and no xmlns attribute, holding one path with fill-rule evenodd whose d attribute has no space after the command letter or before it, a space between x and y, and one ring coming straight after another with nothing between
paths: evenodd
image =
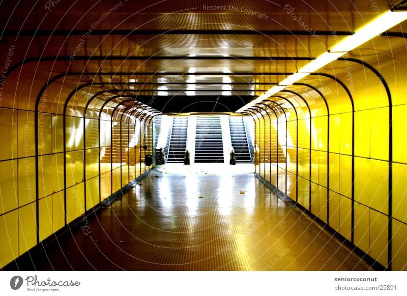
<instances>
[{"instance_id":1,"label":"shiny brown tunnel floor with white reflections leading to the stairs","mask_svg":"<svg viewBox=\"0 0 407 296\"><path fill-rule=\"evenodd\" d=\"M370 270L251 165L165 165L21 270Z\"/></svg>"}]
</instances>

